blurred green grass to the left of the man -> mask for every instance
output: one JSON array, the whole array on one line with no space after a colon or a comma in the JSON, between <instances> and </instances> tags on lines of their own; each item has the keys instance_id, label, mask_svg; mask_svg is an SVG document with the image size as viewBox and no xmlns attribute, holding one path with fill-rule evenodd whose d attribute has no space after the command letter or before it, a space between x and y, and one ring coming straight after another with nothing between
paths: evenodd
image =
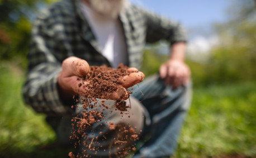
<instances>
[{"instance_id":1,"label":"blurred green grass to the left of the man","mask_svg":"<svg viewBox=\"0 0 256 158\"><path fill-rule=\"evenodd\" d=\"M0 157L32 152L36 146L53 142L55 138L44 121L45 116L23 103L23 71L13 65L0 65Z\"/></svg>"}]
</instances>

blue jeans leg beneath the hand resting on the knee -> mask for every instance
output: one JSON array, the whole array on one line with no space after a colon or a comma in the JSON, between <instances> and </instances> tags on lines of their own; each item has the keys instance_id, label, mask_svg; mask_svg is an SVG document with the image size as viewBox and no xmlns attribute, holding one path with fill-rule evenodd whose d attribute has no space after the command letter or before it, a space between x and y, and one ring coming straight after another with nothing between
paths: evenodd
<instances>
[{"instance_id":1,"label":"blue jeans leg beneath the hand resting on the knee","mask_svg":"<svg viewBox=\"0 0 256 158\"><path fill-rule=\"evenodd\" d=\"M191 103L191 84L172 90L171 86L164 86L159 75L153 75L138 85L132 87L131 95L141 100L149 113L150 122L144 127L141 141L149 139L133 157L171 156Z\"/></svg>"}]
</instances>

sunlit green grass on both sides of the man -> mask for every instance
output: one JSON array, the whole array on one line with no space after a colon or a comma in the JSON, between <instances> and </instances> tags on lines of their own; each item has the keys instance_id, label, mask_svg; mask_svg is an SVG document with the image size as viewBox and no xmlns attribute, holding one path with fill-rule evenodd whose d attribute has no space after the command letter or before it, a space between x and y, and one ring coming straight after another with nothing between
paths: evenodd
<instances>
[{"instance_id":1,"label":"sunlit green grass on both sides of the man","mask_svg":"<svg viewBox=\"0 0 256 158\"><path fill-rule=\"evenodd\" d=\"M0 157L67 156L68 151L39 149L54 142L55 135L45 116L23 103L24 78L22 71L0 65ZM174 157L255 157L255 89L256 83L195 88Z\"/></svg>"}]
</instances>

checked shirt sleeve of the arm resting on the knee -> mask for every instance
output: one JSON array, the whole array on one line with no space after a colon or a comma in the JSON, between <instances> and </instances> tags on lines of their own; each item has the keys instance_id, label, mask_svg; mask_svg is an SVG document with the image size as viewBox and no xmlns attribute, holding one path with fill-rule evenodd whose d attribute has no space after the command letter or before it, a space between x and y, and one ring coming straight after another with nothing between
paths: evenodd
<instances>
[{"instance_id":1,"label":"checked shirt sleeve of the arm resting on the knee","mask_svg":"<svg viewBox=\"0 0 256 158\"><path fill-rule=\"evenodd\" d=\"M146 42L167 40L170 44L187 42L186 30L176 21L141 9L146 19Z\"/></svg>"}]
</instances>

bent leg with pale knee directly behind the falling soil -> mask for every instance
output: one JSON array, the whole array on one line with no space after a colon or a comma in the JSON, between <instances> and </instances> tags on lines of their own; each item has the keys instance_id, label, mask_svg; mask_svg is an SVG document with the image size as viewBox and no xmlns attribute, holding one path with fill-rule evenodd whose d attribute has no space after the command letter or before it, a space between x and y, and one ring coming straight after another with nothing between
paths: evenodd
<instances>
[{"instance_id":1,"label":"bent leg with pale knee directly behind the falling soil","mask_svg":"<svg viewBox=\"0 0 256 158\"><path fill-rule=\"evenodd\" d=\"M124 157L135 150L134 142L144 128L144 107L132 97L126 100L125 111L117 109L114 100L105 100L105 107L101 103L98 100L97 109L92 110L103 112L103 118L86 130L80 153L91 157Z\"/></svg>"}]
</instances>

